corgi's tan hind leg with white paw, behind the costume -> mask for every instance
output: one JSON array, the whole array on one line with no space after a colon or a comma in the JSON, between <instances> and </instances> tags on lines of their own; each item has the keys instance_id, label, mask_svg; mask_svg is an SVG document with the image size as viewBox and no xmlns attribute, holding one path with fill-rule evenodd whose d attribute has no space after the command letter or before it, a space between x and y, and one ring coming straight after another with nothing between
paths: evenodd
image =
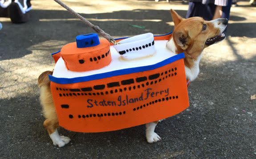
<instances>
[{"instance_id":1,"label":"corgi's tan hind leg with white paw, behind the costume","mask_svg":"<svg viewBox=\"0 0 256 159\"><path fill-rule=\"evenodd\" d=\"M58 145L59 147L63 147L65 144L69 143L70 139L69 137L59 135L57 131L59 122L53 103L50 80L48 78L48 75L52 74L53 72L46 71L38 77L38 85L40 87L40 100L43 107L43 114L46 119L44 122L44 127L48 131L50 138L53 140L53 144Z\"/></svg>"}]
</instances>

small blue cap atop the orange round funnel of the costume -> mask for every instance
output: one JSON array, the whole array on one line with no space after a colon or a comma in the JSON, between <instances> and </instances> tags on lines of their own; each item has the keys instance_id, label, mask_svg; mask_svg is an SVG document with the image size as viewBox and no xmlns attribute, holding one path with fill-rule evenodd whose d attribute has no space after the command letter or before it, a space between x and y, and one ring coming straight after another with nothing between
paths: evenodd
<instances>
[{"instance_id":1,"label":"small blue cap atop the orange round funnel of the costume","mask_svg":"<svg viewBox=\"0 0 256 159\"><path fill-rule=\"evenodd\" d=\"M76 40L77 48L88 48L100 44L99 37L95 33L79 35L76 37Z\"/></svg>"}]
</instances>

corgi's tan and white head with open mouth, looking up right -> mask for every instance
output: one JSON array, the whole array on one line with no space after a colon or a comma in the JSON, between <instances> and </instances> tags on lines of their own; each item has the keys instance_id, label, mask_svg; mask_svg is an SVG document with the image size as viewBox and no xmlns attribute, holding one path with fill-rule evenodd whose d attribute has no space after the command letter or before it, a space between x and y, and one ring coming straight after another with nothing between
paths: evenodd
<instances>
[{"instance_id":1,"label":"corgi's tan and white head with open mouth, looking up right","mask_svg":"<svg viewBox=\"0 0 256 159\"><path fill-rule=\"evenodd\" d=\"M203 20L201 17L183 19L172 9L171 16L174 22L172 35L178 53L185 52L196 58L204 48L225 39L223 31L228 24L225 18L211 21Z\"/></svg>"}]
</instances>

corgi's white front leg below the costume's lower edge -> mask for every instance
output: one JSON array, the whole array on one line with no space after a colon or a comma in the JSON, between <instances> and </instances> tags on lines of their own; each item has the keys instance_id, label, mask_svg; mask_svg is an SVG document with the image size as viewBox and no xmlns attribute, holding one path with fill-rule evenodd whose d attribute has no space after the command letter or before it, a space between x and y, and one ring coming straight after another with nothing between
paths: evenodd
<instances>
[{"instance_id":1,"label":"corgi's white front leg below the costume's lower edge","mask_svg":"<svg viewBox=\"0 0 256 159\"><path fill-rule=\"evenodd\" d=\"M146 140L149 143L158 142L161 138L154 132L158 121L146 124Z\"/></svg>"}]
</instances>

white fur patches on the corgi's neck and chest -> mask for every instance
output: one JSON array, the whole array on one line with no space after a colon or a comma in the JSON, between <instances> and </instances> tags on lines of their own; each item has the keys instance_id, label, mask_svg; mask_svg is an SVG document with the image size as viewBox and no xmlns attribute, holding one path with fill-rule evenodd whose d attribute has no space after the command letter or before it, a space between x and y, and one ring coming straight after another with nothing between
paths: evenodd
<instances>
[{"instance_id":1,"label":"white fur patches on the corgi's neck and chest","mask_svg":"<svg viewBox=\"0 0 256 159\"><path fill-rule=\"evenodd\" d=\"M170 50L173 53L176 53L176 46L174 43L173 38L171 38L171 40L169 40L166 44L166 47L168 50ZM195 80L196 77L199 74L199 62L201 60L202 54L200 54L197 58L197 60L194 60L194 65L191 68L188 68L185 66L185 72L186 72L186 77L187 80Z\"/></svg>"}]
</instances>

